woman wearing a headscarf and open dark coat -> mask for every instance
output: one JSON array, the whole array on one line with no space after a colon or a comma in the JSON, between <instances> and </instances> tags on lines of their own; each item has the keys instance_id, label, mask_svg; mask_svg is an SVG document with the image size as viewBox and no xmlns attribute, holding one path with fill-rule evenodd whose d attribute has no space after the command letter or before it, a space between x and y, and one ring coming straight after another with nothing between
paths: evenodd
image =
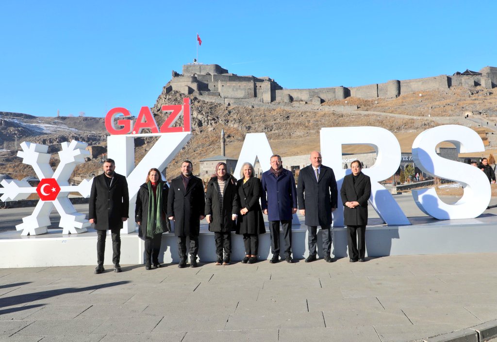
<instances>
[{"instance_id":1,"label":"woman wearing a headscarf and open dark coat","mask_svg":"<svg viewBox=\"0 0 497 342\"><path fill-rule=\"evenodd\" d=\"M228 173L225 163L216 165L216 173L207 183L205 219L216 241L216 265L231 262L231 232L238 214L237 180ZM224 250L224 257L223 257Z\"/></svg>"}]
</instances>

